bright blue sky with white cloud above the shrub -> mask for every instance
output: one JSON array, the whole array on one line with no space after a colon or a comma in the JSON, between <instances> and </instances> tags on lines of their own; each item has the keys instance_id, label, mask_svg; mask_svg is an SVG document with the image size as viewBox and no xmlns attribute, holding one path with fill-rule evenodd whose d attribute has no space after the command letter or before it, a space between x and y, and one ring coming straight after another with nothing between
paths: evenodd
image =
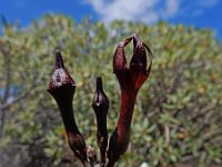
<instances>
[{"instance_id":1,"label":"bright blue sky with white cloud above the shrub","mask_svg":"<svg viewBox=\"0 0 222 167\"><path fill-rule=\"evenodd\" d=\"M80 21L90 16L107 23L114 19L158 20L211 28L222 39L222 0L0 0L0 16L23 27L44 13L63 13Z\"/></svg>"}]
</instances>

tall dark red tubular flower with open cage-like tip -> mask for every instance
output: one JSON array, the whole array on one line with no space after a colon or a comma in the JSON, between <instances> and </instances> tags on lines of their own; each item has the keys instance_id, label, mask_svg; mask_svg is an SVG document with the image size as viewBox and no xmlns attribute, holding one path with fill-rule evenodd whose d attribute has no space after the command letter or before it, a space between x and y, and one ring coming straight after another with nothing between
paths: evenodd
<instances>
[{"instance_id":1,"label":"tall dark red tubular flower with open cage-like tip","mask_svg":"<svg viewBox=\"0 0 222 167\"><path fill-rule=\"evenodd\" d=\"M133 56L130 66L127 65L124 47L133 39ZM149 67L147 69L147 51L149 53ZM121 42L113 57L113 70L121 88L121 107L118 125L110 138L108 167L123 155L130 141L130 127L137 95L141 86L148 79L152 66L152 52L145 43L139 40L137 35Z\"/></svg>"}]
</instances>

